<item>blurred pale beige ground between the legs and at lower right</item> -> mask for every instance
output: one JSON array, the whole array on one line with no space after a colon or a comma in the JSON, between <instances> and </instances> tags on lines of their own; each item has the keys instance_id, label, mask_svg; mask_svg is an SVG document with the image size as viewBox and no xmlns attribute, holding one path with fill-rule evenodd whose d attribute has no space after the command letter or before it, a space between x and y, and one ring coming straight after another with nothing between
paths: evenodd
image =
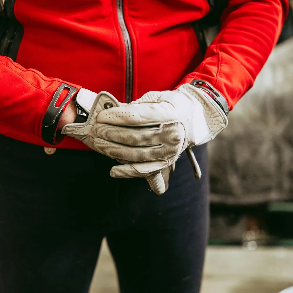
<instances>
[{"instance_id":1,"label":"blurred pale beige ground between the legs and at lower right","mask_svg":"<svg viewBox=\"0 0 293 293\"><path fill-rule=\"evenodd\" d=\"M293 247L207 249L201 293L277 293L292 285ZM114 265L104 242L90 293L117 292Z\"/></svg>"}]
</instances>

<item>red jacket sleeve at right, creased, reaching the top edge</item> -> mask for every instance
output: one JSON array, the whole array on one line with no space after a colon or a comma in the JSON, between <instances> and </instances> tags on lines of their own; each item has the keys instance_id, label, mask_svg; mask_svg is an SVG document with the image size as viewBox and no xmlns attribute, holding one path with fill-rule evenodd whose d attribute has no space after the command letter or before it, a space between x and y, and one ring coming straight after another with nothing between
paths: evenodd
<instances>
[{"instance_id":1,"label":"red jacket sleeve at right, creased, reaching the top edge","mask_svg":"<svg viewBox=\"0 0 293 293\"><path fill-rule=\"evenodd\" d=\"M230 0L204 60L180 84L205 80L232 109L253 86L276 45L288 8L288 0Z\"/></svg>"}]
</instances>

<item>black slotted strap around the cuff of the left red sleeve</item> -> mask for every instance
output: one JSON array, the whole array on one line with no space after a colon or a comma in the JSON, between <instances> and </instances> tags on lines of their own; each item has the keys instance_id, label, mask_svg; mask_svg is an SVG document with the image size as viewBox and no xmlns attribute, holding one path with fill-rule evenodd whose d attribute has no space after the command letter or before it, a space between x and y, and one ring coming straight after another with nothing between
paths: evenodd
<instances>
[{"instance_id":1,"label":"black slotted strap around the cuff of the left red sleeve","mask_svg":"<svg viewBox=\"0 0 293 293\"><path fill-rule=\"evenodd\" d=\"M56 102L61 92L64 90L64 88L69 89L69 93L67 94L64 101L59 105L59 107L56 107ZM57 133L57 126L63 114L62 109L64 108L66 103L68 103L68 101L76 94L76 92L77 92L76 87L71 86L69 84L65 84L65 83L62 83L57 89L57 91L55 92L53 99L42 121L41 135L42 135L42 139L45 142L49 144L58 144L64 138L64 135L62 135L61 132Z\"/></svg>"}]
</instances>

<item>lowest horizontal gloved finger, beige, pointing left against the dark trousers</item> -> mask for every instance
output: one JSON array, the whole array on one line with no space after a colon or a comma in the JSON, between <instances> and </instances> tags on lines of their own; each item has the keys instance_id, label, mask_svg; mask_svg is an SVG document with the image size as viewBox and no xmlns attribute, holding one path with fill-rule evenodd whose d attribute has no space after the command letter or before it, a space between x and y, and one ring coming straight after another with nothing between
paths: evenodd
<instances>
[{"instance_id":1,"label":"lowest horizontal gloved finger, beige, pointing left against the dark trousers","mask_svg":"<svg viewBox=\"0 0 293 293\"><path fill-rule=\"evenodd\" d=\"M167 160L118 165L112 167L110 175L114 178L148 177L167 165Z\"/></svg>"}]
</instances>

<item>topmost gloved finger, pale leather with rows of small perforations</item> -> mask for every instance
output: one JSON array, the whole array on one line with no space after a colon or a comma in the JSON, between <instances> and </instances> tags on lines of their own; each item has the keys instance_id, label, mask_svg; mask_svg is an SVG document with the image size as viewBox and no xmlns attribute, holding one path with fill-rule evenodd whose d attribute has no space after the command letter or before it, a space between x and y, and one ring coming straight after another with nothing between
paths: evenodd
<instances>
[{"instance_id":1,"label":"topmost gloved finger, pale leather with rows of small perforations","mask_svg":"<svg viewBox=\"0 0 293 293\"><path fill-rule=\"evenodd\" d=\"M171 103L138 103L126 107L103 110L98 114L98 123L111 125L145 125L173 121L178 118Z\"/></svg>"}]
</instances>

